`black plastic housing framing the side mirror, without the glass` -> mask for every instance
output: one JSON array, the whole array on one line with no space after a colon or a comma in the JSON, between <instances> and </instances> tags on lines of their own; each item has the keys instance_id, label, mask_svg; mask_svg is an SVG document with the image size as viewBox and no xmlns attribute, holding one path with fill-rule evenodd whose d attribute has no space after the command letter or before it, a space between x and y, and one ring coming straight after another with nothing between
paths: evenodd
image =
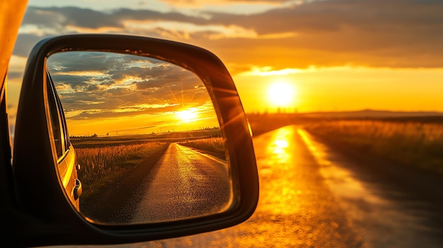
<instances>
[{"instance_id":1,"label":"black plastic housing framing the side mirror, without the glass","mask_svg":"<svg viewBox=\"0 0 443 248\"><path fill-rule=\"evenodd\" d=\"M137 54L171 62L205 83L229 150L233 205L223 213L140 225L101 225L87 220L60 187L50 138L45 60L64 51ZM56 244L122 244L194 235L247 220L258 203L258 172L251 132L234 82L214 54L200 47L126 35L63 35L38 42L28 58L16 119L13 180L17 211L6 243L17 247ZM26 228L23 228L23 227ZM19 235L18 235L19 234ZM36 235L38 234L38 235Z\"/></svg>"}]
</instances>

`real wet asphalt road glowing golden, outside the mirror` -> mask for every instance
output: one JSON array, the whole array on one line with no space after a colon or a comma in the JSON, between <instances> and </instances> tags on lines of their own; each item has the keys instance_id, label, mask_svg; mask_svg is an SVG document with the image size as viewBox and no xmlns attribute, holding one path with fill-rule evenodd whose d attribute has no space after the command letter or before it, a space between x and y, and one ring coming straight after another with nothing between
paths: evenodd
<instances>
[{"instance_id":1,"label":"real wet asphalt road glowing golden, outside the mirror","mask_svg":"<svg viewBox=\"0 0 443 248\"><path fill-rule=\"evenodd\" d=\"M336 148L297 126L257 136L254 147L260 199L245 223L115 247L443 247L442 180L422 197L397 183L388 173L396 167L386 161Z\"/></svg>"}]
</instances>

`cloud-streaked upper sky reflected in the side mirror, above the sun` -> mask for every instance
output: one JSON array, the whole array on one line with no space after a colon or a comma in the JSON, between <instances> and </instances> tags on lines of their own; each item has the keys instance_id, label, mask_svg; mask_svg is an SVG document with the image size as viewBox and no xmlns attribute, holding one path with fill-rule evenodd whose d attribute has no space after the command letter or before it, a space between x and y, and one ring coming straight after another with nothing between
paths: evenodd
<instances>
[{"instance_id":1,"label":"cloud-streaked upper sky reflected in the side mirror, above the sun","mask_svg":"<svg viewBox=\"0 0 443 248\"><path fill-rule=\"evenodd\" d=\"M194 73L158 59L64 52L47 64L68 119L160 114L210 102Z\"/></svg>"}]
</instances>

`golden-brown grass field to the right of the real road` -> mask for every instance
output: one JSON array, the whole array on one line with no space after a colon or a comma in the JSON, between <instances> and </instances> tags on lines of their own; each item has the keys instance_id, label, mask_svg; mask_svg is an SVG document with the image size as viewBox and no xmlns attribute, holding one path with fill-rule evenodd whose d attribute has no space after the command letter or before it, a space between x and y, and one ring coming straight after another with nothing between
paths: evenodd
<instances>
[{"instance_id":1,"label":"golden-brown grass field to the right of the real road","mask_svg":"<svg viewBox=\"0 0 443 248\"><path fill-rule=\"evenodd\" d=\"M443 174L443 124L343 120L319 122L306 130L403 165Z\"/></svg>"}]
</instances>

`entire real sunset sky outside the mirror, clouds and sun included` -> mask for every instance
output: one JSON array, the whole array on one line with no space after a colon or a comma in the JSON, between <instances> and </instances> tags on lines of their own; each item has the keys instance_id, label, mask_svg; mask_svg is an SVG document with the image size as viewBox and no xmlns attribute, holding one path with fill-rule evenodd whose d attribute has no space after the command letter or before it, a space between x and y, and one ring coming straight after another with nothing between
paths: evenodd
<instances>
[{"instance_id":1,"label":"entire real sunset sky outside the mirror, clouds and sun included","mask_svg":"<svg viewBox=\"0 0 443 248\"><path fill-rule=\"evenodd\" d=\"M226 64L248 113L442 112L441 13L441 1L418 0L31 0L8 74L9 114L31 47L67 33L204 47Z\"/></svg>"}]
</instances>

